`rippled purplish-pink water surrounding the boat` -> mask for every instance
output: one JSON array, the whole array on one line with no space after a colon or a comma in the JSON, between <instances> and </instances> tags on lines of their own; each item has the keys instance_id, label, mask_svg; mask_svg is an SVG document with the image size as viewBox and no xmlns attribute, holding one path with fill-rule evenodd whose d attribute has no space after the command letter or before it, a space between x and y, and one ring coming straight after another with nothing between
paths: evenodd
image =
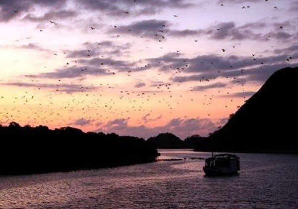
<instances>
[{"instance_id":1,"label":"rippled purplish-pink water surrounding the boat","mask_svg":"<svg viewBox=\"0 0 298 209\"><path fill-rule=\"evenodd\" d=\"M0 177L0 209L298 209L298 155L237 155L234 177L204 177L203 160Z\"/></svg>"}]
</instances>

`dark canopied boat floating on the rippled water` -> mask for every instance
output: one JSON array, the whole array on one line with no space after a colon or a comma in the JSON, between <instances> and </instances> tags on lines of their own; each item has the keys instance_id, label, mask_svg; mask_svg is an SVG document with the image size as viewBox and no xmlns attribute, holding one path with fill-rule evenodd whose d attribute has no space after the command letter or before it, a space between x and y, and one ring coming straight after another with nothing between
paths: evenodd
<instances>
[{"instance_id":1,"label":"dark canopied boat floating on the rippled water","mask_svg":"<svg viewBox=\"0 0 298 209\"><path fill-rule=\"evenodd\" d=\"M205 160L203 170L206 176L234 175L240 171L239 157L232 154L219 154Z\"/></svg>"}]
</instances>

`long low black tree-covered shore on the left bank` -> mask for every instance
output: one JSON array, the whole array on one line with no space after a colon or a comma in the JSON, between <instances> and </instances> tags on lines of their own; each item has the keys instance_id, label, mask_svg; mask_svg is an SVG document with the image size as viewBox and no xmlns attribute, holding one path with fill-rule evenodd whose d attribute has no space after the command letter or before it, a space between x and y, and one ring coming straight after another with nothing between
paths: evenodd
<instances>
[{"instance_id":1,"label":"long low black tree-covered shore on the left bank","mask_svg":"<svg viewBox=\"0 0 298 209\"><path fill-rule=\"evenodd\" d=\"M72 127L0 125L0 175L68 171L147 163L157 150L142 138Z\"/></svg>"}]
</instances>

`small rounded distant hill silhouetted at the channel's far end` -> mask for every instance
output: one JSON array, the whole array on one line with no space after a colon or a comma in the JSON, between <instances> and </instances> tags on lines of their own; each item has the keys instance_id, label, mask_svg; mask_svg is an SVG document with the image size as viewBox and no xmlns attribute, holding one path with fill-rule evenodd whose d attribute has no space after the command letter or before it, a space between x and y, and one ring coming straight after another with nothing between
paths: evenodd
<instances>
[{"instance_id":1,"label":"small rounded distant hill silhouetted at the channel's far end","mask_svg":"<svg viewBox=\"0 0 298 209\"><path fill-rule=\"evenodd\" d=\"M150 137L147 142L159 149L183 148L183 141L172 133L160 133L157 136Z\"/></svg>"}]
</instances>

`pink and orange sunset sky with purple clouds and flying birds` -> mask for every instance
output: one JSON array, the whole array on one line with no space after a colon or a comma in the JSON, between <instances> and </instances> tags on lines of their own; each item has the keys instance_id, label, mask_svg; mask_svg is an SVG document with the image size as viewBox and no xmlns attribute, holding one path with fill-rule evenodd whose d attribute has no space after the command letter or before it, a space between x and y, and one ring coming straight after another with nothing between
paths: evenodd
<instances>
[{"instance_id":1,"label":"pink and orange sunset sky with purple clouds and flying birds","mask_svg":"<svg viewBox=\"0 0 298 209\"><path fill-rule=\"evenodd\" d=\"M0 0L2 125L205 136L294 66L297 0Z\"/></svg>"}]
</instances>

